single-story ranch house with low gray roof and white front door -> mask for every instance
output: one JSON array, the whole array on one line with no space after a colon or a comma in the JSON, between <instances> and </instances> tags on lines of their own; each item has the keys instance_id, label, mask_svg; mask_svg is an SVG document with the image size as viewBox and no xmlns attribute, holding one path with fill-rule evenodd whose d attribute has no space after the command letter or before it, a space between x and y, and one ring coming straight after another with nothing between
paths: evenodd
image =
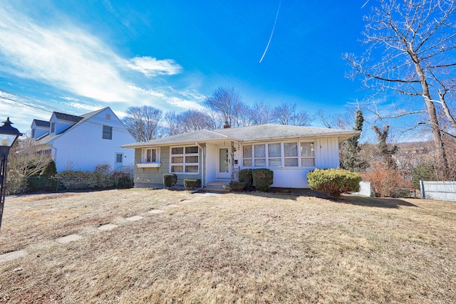
<instances>
[{"instance_id":1,"label":"single-story ranch house with low gray roof and white front door","mask_svg":"<svg viewBox=\"0 0 456 304\"><path fill-rule=\"evenodd\" d=\"M135 187L162 187L162 176L212 182L237 180L241 169L274 171L272 187L308 188L307 173L339 166L338 145L355 130L254 125L199 130L122 147L135 149Z\"/></svg>"}]
</instances>

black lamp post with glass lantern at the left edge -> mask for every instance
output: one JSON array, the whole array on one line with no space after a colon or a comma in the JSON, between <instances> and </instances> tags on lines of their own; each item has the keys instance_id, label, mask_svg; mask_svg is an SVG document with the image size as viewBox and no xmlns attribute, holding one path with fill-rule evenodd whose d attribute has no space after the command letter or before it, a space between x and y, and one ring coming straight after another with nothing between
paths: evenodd
<instances>
[{"instance_id":1,"label":"black lamp post with glass lantern at the left edge","mask_svg":"<svg viewBox=\"0 0 456 304\"><path fill-rule=\"evenodd\" d=\"M9 117L3 122L0 127L0 229L1 219L3 218L3 207L5 205L5 183L6 183L6 164L8 164L8 154L11 147L16 142L17 137L21 136L15 127L11 127L13 122L9 120Z\"/></svg>"}]
</instances>

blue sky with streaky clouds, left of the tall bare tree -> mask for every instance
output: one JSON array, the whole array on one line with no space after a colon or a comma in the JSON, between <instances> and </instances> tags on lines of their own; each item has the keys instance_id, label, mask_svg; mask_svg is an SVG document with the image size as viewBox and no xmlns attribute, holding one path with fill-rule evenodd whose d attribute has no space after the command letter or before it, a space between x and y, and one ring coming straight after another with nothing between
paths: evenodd
<instances>
[{"instance_id":1,"label":"blue sky with streaky clouds, left of the tall bare tree","mask_svg":"<svg viewBox=\"0 0 456 304\"><path fill-rule=\"evenodd\" d=\"M28 132L53 110L182 112L220 86L249 105L343 113L366 93L342 60L363 51L365 2L0 0L0 88L40 103L0 93L0 119Z\"/></svg>"}]
</instances>

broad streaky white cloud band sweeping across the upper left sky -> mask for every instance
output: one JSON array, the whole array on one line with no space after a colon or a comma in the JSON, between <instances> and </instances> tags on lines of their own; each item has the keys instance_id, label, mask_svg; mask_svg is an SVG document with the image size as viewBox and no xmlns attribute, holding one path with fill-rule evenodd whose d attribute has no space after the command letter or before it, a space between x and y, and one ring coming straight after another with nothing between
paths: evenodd
<instances>
[{"instance_id":1,"label":"broad streaky white cloud band sweeping across the upper left sky","mask_svg":"<svg viewBox=\"0 0 456 304\"><path fill-rule=\"evenodd\" d=\"M137 89L141 82L150 82L150 78L180 73L182 66L172 59L123 58L74 23L63 21L58 26L49 26L8 5L0 6L0 70L82 99L128 104L132 100L153 103L160 98L172 107L194 105L191 100L176 97L179 94L171 90L144 93ZM138 80L138 72L147 78ZM139 83L132 87L132 79ZM68 101L76 102L71 104L73 108L82 107L78 100Z\"/></svg>"}]
</instances>

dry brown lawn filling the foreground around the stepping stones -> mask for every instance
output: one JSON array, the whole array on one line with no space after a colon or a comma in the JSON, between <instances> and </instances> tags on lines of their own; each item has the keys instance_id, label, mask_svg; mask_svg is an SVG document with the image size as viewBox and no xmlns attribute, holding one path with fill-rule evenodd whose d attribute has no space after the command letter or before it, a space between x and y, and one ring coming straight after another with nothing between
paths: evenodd
<instances>
[{"instance_id":1,"label":"dry brown lawn filling the foreground around the stepping stones","mask_svg":"<svg viewBox=\"0 0 456 304\"><path fill-rule=\"evenodd\" d=\"M108 223L119 226L97 229ZM69 234L83 238L55 241ZM7 198L0 254L19 249L28 255L0 263L0 303L456 301L455 202L147 189Z\"/></svg>"}]
</instances>

